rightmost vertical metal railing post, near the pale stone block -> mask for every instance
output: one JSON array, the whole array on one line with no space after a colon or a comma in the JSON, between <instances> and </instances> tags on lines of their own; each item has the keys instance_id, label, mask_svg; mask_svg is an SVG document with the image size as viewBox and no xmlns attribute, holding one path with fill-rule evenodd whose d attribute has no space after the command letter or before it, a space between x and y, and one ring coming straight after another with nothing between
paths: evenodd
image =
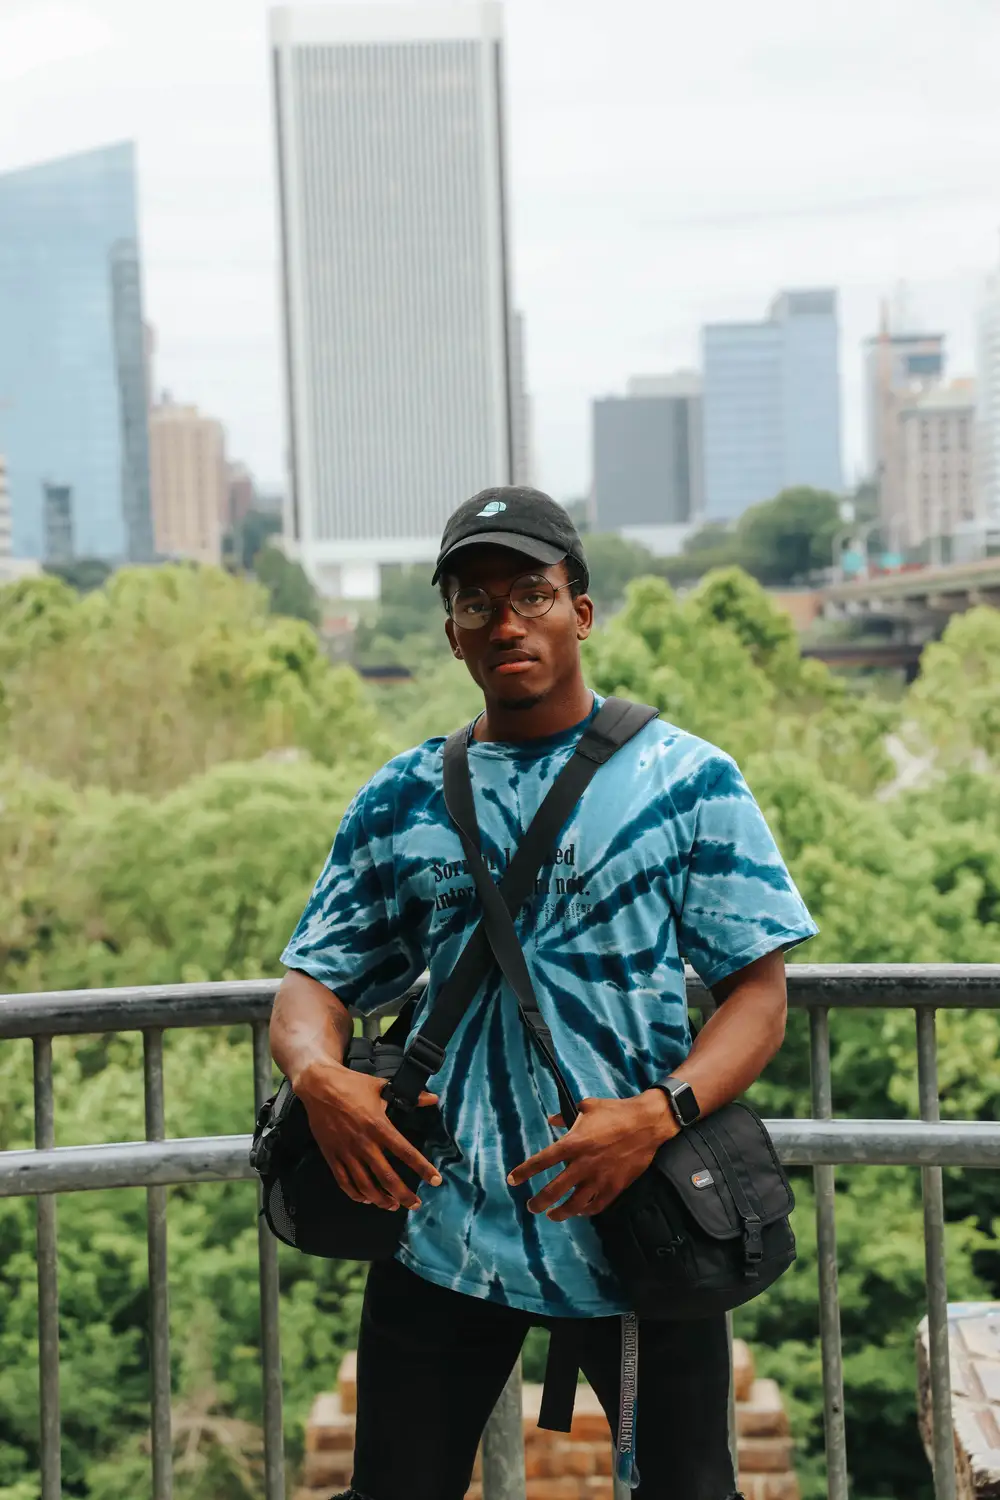
<instances>
[{"instance_id":1,"label":"rightmost vertical metal railing post, near the pale stone block","mask_svg":"<svg viewBox=\"0 0 1000 1500\"><path fill-rule=\"evenodd\" d=\"M942 1118L937 1095L937 1012L916 1011L916 1064L921 1119ZM945 1185L940 1167L922 1167L924 1257L927 1266L927 1352L931 1366L934 1434L934 1497L955 1500L955 1438L952 1436L952 1371L948 1344L948 1257L945 1252Z\"/></svg>"}]
</instances>

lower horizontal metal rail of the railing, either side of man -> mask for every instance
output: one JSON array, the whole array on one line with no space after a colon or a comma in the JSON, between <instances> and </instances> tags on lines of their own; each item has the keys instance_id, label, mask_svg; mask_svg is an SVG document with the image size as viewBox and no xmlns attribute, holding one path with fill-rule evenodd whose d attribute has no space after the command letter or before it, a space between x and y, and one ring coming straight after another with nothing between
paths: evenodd
<instances>
[{"instance_id":1,"label":"lower horizontal metal rail of the railing, either side of man","mask_svg":"<svg viewBox=\"0 0 1000 1500\"><path fill-rule=\"evenodd\" d=\"M1000 1167L1000 1125L976 1120L768 1120L792 1167ZM0 1152L0 1198L252 1179L249 1136Z\"/></svg>"}]
</instances>

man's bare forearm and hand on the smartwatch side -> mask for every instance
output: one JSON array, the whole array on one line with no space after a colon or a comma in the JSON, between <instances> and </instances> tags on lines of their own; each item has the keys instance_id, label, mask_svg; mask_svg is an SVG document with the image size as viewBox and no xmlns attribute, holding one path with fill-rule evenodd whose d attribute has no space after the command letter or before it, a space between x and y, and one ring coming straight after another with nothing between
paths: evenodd
<instances>
[{"instance_id":1,"label":"man's bare forearm and hand on the smartwatch side","mask_svg":"<svg viewBox=\"0 0 1000 1500\"><path fill-rule=\"evenodd\" d=\"M787 1011L784 951L778 948L738 969L712 987L712 996L717 1010L672 1072L691 1084L702 1114L744 1094L781 1046ZM553 1114L550 1124L562 1125L562 1116ZM573 1130L511 1172L507 1180L519 1186L561 1166L559 1176L537 1192L528 1208L553 1221L576 1215L589 1218L624 1192L678 1131L663 1089L646 1089L631 1100L583 1100Z\"/></svg>"}]
</instances>

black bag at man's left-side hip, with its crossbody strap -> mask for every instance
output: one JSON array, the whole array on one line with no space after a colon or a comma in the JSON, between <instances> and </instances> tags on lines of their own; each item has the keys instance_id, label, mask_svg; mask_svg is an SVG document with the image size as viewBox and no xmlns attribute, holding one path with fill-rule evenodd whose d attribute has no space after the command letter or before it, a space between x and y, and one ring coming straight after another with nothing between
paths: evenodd
<instances>
[{"instance_id":1,"label":"black bag at man's left-side hip, with its crossbody strap","mask_svg":"<svg viewBox=\"0 0 1000 1500\"><path fill-rule=\"evenodd\" d=\"M508 921L511 914L517 914L534 894L535 876L543 861L555 848L570 813L598 768L655 716L655 708L619 698L609 698L601 705L546 792L499 886L487 874L489 886ZM471 798L469 732L466 726L447 741L445 788L447 768L456 750L460 750ZM472 822L475 824L475 812ZM478 854L478 828L475 854L483 864ZM520 946L517 951L520 952ZM375 1041L354 1038L348 1047L345 1060L349 1068L390 1080L382 1095L388 1119L438 1167L445 1166L448 1160L454 1161L457 1150L444 1126L441 1112L435 1106L420 1108L417 1100L427 1088L430 1076L441 1068L448 1042L495 966L496 957L484 916L414 1036L406 1040L417 1008L411 992L384 1036ZM388 1212L370 1203L355 1203L342 1191L315 1142L306 1107L295 1096L288 1078L261 1106L250 1144L250 1166L262 1184L261 1212L270 1230L286 1245L307 1256L337 1260L390 1260L396 1254L409 1216L408 1210ZM394 1158L393 1166L408 1186L417 1186L420 1179L411 1168Z\"/></svg>"}]
</instances>

